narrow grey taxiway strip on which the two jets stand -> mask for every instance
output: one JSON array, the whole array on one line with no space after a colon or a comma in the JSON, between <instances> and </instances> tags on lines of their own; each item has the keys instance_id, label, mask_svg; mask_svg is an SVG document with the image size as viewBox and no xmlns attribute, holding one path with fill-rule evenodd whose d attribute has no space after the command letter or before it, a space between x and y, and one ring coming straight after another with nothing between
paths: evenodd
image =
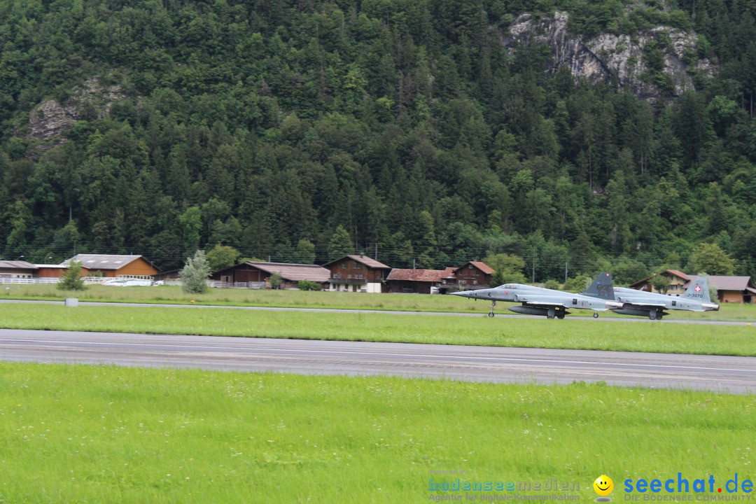
<instances>
[{"instance_id":1,"label":"narrow grey taxiway strip on which the two jets stand","mask_svg":"<svg viewBox=\"0 0 756 504\"><path fill-rule=\"evenodd\" d=\"M42 304L42 305L63 305L62 301L36 301L29 299L0 299L3 303L25 303L25 304ZM130 306L134 308L220 308L228 310L257 310L257 311L308 311L312 313L341 313L341 314L390 314L390 315L432 315L443 317L486 317L488 316L488 304L481 305L481 311L478 313L459 313L450 311L397 311L397 310L344 310L335 308L285 308L274 306L215 306L215 305L164 305L158 303L113 303L113 302L92 302L79 301L79 306ZM507 308L499 307L496 310L498 318L528 318L534 320L544 320L544 317L538 315L520 315L510 314ZM587 312L587 313L590 313ZM612 322L640 322L640 323L684 323L702 326L744 326L749 323L747 320L680 320L665 317L664 320L649 320L646 317L608 317L607 313L600 315L598 320L609 320ZM674 314L671 315L674 317ZM565 317L564 320L590 320L590 317ZM561 321L560 321L561 322ZM751 323L756 323L754 320Z\"/></svg>"}]
</instances>

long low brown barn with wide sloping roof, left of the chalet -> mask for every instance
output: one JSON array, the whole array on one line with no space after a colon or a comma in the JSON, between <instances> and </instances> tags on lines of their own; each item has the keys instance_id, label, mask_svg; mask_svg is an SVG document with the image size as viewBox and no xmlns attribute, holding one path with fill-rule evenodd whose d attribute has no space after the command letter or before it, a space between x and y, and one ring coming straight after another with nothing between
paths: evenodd
<instances>
[{"instance_id":1,"label":"long low brown barn with wide sloping roof, left of the chalet","mask_svg":"<svg viewBox=\"0 0 756 504\"><path fill-rule=\"evenodd\" d=\"M271 275L274 273L280 274L283 280L281 289L296 289L300 280L309 280L325 286L330 276L330 271L316 264L246 261L225 270L215 271L211 278L230 286L249 287L250 283L265 283L265 288L270 288Z\"/></svg>"}]
</instances>

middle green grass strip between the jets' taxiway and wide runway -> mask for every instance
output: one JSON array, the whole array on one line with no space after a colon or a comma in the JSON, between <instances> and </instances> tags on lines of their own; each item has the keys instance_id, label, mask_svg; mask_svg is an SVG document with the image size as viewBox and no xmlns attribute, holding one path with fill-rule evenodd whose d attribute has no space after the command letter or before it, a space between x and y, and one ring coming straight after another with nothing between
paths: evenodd
<instances>
[{"instance_id":1,"label":"middle green grass strip between the jets' taxiway and wide runway","mask_svg":"<svg viewBox=\"0 0 756 504\"><path fill-rule=\"evenodd\" d=\"M756 326L519 317L309 313L233 308L2 305L0 327L756 355Z\"/></svg>"}]
</instances>

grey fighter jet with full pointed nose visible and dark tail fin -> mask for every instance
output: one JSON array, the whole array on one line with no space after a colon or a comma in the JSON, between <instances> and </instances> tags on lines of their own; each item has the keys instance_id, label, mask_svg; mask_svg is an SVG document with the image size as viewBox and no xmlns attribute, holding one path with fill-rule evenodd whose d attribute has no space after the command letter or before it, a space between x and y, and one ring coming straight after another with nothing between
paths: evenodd
<instances>
[{"instance_id":1,"label":"grey fighter jet with full pointed nose visible and dark tail fin","mask_svg":"<svg viewBox=\"0 0 756 504\"><path fill-rule=\"evenodd\" d=\"M598 317L599 311L612 308L622 308L622 303L613 301L612 277L602 273L596 277L586 292L592 295L571 294L554 289L543 289L523 285L522 283L505 283L494 289L466 290L451 292L463 298L483 299L491 301L491 311L488 317L494 316L496 301L512 301L522 303L521 306L510 306L508 309L518 314L541 315L553 319L563 319L569 314L568 308L593 310L593 317Z\"/></svg>"}]
</instances>

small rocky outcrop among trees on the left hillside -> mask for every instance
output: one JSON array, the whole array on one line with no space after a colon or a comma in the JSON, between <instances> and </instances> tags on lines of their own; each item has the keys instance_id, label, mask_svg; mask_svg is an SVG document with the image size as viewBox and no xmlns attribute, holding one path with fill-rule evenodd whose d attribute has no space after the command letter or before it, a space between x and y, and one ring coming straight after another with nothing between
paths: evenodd
<instances>
[{"instance_id":1,"label":"small rocky outcrop among trees on the left hillside","mask_svg":"<svg viewBox=\"0 0 756 504\"><path fill-rule=\"evenodd\" d=\"M34 107L29 113L29 136L36 141L39 151L63 144L66 139L62 134L74 122L88 116L107 116L113 103L123 98L125 95L120 86L106 86L97 77L89 79L64 103L47 100Z\"/></svg>"}]
</instances>

